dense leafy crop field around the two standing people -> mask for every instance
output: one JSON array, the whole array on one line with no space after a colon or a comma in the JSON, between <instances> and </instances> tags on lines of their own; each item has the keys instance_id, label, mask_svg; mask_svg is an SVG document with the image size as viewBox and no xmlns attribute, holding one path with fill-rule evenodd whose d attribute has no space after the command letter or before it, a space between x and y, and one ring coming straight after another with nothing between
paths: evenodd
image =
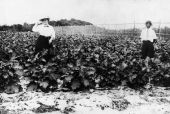
<instances>
[{"instance_id":1,"label":"dense leafy crop field around the two standing people","mask_svg":"<svg viewBox=\"0 0 170 114\"><path fill-rule=\"evenodd\" d=\"M158 42L155 60L146 65L139 37L57 35L48 63L43 58L46 50L39 58L33 55L37 38L32 32L0 33L1 92L93 92L119 86L136 91L170 86L169 40Z\"/></svg>"}]
</instances>

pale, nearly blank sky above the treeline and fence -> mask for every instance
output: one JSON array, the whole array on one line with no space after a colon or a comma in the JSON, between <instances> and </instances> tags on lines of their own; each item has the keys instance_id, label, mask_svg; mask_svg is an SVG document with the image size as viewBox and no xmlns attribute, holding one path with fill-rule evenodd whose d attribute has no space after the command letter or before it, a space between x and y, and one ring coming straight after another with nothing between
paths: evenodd
<instances>
[{"instance_id":1,"label":"pale, nearly blank sky above the treeline and fence","mask_svg":"<svg viewBox=\"0 0 170 114\"><path fill-rule=\"evenodd\" d=\"M0 0L0 25L80 19L93 24L170 22L170 0Z\"/></svg>"}]
</instances>

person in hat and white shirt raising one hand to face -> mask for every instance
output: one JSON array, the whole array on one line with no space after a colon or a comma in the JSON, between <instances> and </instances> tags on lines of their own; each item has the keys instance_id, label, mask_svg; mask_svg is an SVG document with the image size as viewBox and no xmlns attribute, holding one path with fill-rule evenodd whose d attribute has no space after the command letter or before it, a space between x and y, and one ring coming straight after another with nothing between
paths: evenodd
<instances>
[{"instance_id":1,"label":"person in hat and white shirt raising one hand to face","mask_svg":"<svg viewBox=\"0 0 170 114\"><path fill-rule=\"evenodd\" d=\"M46 60L50 59L49 49L52 48L52 41L55 39L55 31L49 25L49 20L49 17L42 18L32 28L32 31L38 32L40 35L36 41L35 54L41 52L43 49L48 49Z\"/></svg>"}]
</instances>

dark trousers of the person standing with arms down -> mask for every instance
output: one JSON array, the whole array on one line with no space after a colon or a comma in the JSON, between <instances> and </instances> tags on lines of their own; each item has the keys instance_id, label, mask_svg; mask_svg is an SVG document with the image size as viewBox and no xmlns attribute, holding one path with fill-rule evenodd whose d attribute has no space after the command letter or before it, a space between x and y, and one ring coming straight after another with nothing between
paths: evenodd
<instances>
[{"instance_id":1,"label":"dark trousers of the person standing with arms down","mask_svg":"<svg viewBox=\"0 0 170 114\"><path fill-rule=\"evenodd\" d=\"M146 59L146 57L150 57L153 58L155 54L154 51L154 46L153 46L153 42L151 41L143 41L142 44L142 59Z\"/></svg>"}]
</instances>

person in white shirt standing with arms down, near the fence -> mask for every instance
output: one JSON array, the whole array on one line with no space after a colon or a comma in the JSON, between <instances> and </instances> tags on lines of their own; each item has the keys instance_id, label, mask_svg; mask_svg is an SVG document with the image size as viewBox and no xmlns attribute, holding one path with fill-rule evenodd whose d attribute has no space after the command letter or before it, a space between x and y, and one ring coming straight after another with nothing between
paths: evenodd
<instances>
[{"instance_id":1,"label":"person in white shirt standing with arms down, near the fence","mask_svg":"<svg viewBox=\"0 0 170 114\"><path fill-rule=\"evenodd\" d=\"M157 36L154 30L152 30L152 22L147 21L146 28L142 30L141 32L141 40L142 40L142 58L154 58L154 43L156 42Z\"/></svg>"}]
</instances>

